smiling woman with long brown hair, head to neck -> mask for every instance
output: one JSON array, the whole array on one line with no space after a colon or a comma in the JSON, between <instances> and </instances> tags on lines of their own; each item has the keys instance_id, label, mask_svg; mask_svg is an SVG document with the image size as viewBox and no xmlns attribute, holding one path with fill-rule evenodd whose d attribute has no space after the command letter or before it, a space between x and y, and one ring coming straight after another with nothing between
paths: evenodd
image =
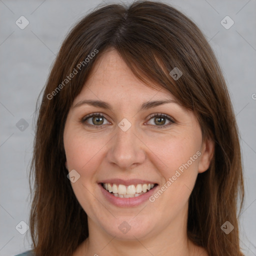
<instances>
[{"instance_id":1,"label":"smiling woman with long brown hair, head to neck","mask_svg":"<svg viewBox=\"0 0 256 256\"><path fill-rule=\"evenodd\" d=\"M242 255L237 134L190 19L153 1L91 12L64 40L40 104L32 255Z\"/></svg>"}]
</instances>

